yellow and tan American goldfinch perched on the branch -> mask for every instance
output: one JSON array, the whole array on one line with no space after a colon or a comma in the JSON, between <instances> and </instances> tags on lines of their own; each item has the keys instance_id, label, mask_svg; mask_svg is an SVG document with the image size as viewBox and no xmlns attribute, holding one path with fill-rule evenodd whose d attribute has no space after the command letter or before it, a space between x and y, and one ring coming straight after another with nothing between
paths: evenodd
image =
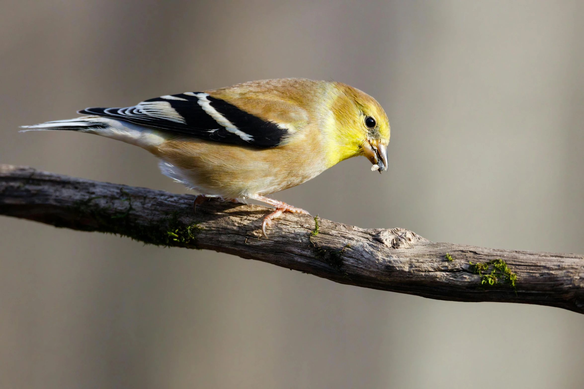
<instances>
[{"instance_id":1,"label":"yellow and tan American goldfinch perched on the branch","mask_svg":"<svg viewBox=\"0 0 584 389\"><path fill-rule=\"evenodd\" d=\"M86 108L85 116L22 126L89 132L140 146L163 174L201 195L255 199L305 213L268 197L334 164L364 155L387 170L390 124L373 97L340 82L273 79L205 92L166 94L127 108Z\"/></svg>"}]
</instances>

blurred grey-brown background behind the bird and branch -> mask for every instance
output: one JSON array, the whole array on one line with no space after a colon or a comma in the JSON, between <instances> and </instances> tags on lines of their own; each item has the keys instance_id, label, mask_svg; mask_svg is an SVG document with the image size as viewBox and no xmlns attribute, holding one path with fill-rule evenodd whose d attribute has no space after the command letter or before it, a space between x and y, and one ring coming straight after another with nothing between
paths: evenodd
<instances>
[{"instance_id":1,"label":"blurred grey-brown background behind the bird and branch","mask_svg":"<svg viewBox=\"0 0 584 389\"><path fill-rule=\"evenodd\" d=\"M144 150L18 125L248 80L333 79L390 118L274 197L433 241L584 253L584 3L12 1L0 163L182 192ZM0 218L1 388L582 388L584 316L338 285Z\"/></svg>"}]
</instances>

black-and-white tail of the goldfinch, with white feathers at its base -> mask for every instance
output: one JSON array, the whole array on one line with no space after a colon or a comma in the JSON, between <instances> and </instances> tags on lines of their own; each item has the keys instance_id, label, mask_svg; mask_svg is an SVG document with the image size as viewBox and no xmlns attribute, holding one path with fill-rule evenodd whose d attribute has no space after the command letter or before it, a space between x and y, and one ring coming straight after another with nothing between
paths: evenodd
<instances>
[{"instance_id":1,"label":"black-and-white tail of the goldfinch, with white feathers at its base","mask_svg":"<svg viewBox=\"0 0 584 389\"><path fill-rule=\"evenodd\" d=\"M148 148L159 145L166 140L164 132L142 127L123 120L110 119L100 116L84 116L68 120L47 121L41 124L23 125L20 132L27 131L80 131L105 136L106 138L130 143Z\"/></svg>"}]
</instances>

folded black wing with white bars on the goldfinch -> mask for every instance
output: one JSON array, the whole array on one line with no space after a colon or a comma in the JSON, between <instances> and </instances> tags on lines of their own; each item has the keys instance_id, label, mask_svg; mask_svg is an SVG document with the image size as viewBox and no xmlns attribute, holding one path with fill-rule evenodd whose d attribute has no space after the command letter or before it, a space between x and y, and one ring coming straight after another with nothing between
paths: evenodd
<instances>
[{"instance_id":1,"label":"folded black wing with white bars on the goldfinch","mask_svg":"<svg viewBox=\"0 0 584 389\"><path fill-rule=\"evenodd\" d=\"M277 146L287 134L276 123L247 113L204 92L185 92L142 101L127 108L85 108L80 114L125 120L211 141Z\"/></svg>"}]
</instances>

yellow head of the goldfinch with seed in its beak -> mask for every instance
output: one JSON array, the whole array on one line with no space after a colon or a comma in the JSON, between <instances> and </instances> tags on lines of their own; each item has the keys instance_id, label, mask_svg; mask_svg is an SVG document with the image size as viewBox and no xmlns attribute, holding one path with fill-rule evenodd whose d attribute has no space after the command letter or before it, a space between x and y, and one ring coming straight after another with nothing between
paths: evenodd
<instances>
[{"instance_id":1,"label":"yellow head of the goldfinch with seed in its beak","mask_svg":"<svg viewBox=\"0 0 584 389\"><path fill-rule=\"evenodd\" d=\"M335 141L331 162L364 155L373 164L371 170L387 170L387 145L390 123L373 97L340 82L333 83L335 93L330 101L332 113L327 127Z\"/></svg>"}]
</instances>

